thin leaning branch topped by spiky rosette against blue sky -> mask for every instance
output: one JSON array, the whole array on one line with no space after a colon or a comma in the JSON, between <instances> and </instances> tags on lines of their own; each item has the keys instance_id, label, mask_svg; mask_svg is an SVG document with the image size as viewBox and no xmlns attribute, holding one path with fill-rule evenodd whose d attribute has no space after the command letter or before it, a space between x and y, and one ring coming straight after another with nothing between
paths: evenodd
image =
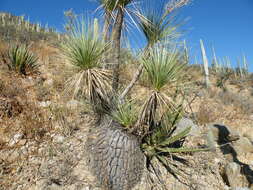
<instances>
[{"instance_id":1,"label":"thin leaning branch topped by spiky rosette against blue sky","mask_svg":"<svg viewBox=\"0 0 253 190\"><path fill-rule=\"evenodd\" d=\"M157 2L155 3L157 4ZM172 0L165 7L164 4L161 4L160 7L155 4L150 4L147 8L143 8L139 11L139 28L147 40L145 49L152 48L157 43L175 43L173 41L181 34L178 32L179 25L172 23L170 14L174 10L183 7L188 3L189 0ZM123 101L127 93L139 80L143 67L144 66L140 64L132 81L121 94L121 101Z\"/></svg>"}]
</instances>

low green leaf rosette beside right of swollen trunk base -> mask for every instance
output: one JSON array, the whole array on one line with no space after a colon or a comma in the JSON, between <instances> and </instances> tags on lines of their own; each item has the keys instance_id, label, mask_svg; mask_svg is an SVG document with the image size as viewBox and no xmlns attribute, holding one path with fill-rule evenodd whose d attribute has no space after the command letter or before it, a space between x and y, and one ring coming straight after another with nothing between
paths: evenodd
<instances>
[{"instance_id":1,"label":"low green leaf rosette beside right of swollen trunk base","mask_svg":"<svg viewBox=\"0 0 253 190\"><path fill-rule=\"evenodd\" d=\"M152 164L152 160L156 158L174 176L181 174L175 161L172 160L174 154L209 150L208 148L192 148L183 145L191 126L176 133L176 124L181 118L182 106L180 105L177 112L168 111L159 122L150 126L151 132L143 138L141 144L141 149L147 157L147 163Z\"/></svg>"}]
</instances>

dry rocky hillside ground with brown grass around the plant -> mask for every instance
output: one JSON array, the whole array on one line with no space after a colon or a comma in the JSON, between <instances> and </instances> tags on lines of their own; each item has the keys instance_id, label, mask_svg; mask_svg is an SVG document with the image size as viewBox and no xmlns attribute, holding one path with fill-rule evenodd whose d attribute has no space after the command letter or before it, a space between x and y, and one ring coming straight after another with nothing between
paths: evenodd
<instances>
[{"instance_id":1,"label":"dry rocky hillside ground with brown grass around the plant","mask_svg":"<svg viewBox=\"0 0 253 190\"><path fill-rule=\"evenodd\" d=\"M12 19L8 14L1 15ZM3 20L0 22L3 27ZM11 24L6 28L12 30ZM36 35L43 32L36 31ZM7 46L1 41L0 51L4 52ZM61 51L45 41L32 43L31 50L39 57L39 72L20 75L9 70L3 60L0 62L0 190L102 190L96 173L103 171L96 169L94 163L113 155L134 160L140 152L131 147L137 141L126 143L129 154L121 155L117 150L125 137L116 142L116 149L111 148L114 139L105 135L111 134L110 129L97 128L89 104L66 93L65 81L73 71ZM122 65L122 85L130 81L136 68L134 62ZM143 169L144 161L129 166L123 160L127 171L132 172L128 178L134 189L253 190L253 75L231 76L221 86L221 76L211 72L211 88L206 89L199 65L188 65L185 72L188 73L183 94L186 113L176 131L191 126L184 143L190 147L208 145L211 150L176 154L170 163L179 171L174 175L158 161L154 161L150 172ZM130 96L142 104L149 90L143 78ZM114 135L121 133L124 132L116 129ZM89 146L96 138L102 148ZM113 154L106 154L107 149ZM94 162L91 159L96 155ZM105 167L99 163L100 168ZM124 173L124 168L121 171ZM133 184L126 186L130 188Z\"/></svg>"}]
</instances>

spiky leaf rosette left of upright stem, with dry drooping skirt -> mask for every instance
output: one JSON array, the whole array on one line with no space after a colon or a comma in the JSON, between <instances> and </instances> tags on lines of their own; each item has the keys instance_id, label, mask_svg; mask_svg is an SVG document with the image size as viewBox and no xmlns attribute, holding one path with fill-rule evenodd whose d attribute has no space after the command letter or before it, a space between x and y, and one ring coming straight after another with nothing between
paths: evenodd
<instances>
[{"instance_id":1,"label":"spiky leaf rosette left of upright stem, with dry drooping skirt","mask_svg":"<svg viewBox=\"0 0 253 190\"><path fill-rule=\"evenodd\" d=\"M66 92L85 97L95 107L109 109L110 72L101 69L108 44L101 39L98 22L76 20L73 31L61 45L64 57L76 69L66 82ZM101 107L102 106L102 107ZM102 111L102 110L100 110Z\"/></svg>"}]
</instances>

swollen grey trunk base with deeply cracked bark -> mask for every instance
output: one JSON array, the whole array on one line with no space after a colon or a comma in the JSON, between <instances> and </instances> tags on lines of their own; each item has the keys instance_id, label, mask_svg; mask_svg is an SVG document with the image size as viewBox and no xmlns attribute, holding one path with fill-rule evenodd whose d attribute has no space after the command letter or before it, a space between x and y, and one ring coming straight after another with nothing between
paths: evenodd
<instances>
[{"instance_id":1,"label":"swollen grey trunk base with deeply cracked bark","mask_svg":"<svg viewBox=\"0 0 253 190\"><path fill-rule=\"evenodd\" d=\"M91 172L108 190L130 190L141 180L144 154L135 136L115 122L102 123L87 140Z\"/></svg>"}]
</instances>

